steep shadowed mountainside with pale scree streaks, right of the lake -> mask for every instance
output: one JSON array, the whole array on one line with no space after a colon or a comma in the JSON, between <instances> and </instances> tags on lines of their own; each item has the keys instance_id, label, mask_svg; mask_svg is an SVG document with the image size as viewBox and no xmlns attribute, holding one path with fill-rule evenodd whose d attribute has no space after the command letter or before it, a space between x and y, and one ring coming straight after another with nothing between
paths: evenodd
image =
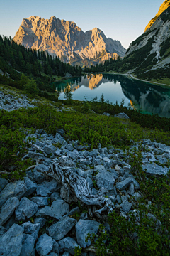
<instances>
[{"instance_id":1,"label":"steep shadowed mountainside with pale scree streaks, right of the lake","mask_svg":"<svg viewBox=\"0 0 170 256\"><path fill-rule=\"evenodd\" d=\"M163 6L169 3L164 1ZM170 6L130 44L117 69L140 79L170 83Z\"/></svg>"}]
</instances>

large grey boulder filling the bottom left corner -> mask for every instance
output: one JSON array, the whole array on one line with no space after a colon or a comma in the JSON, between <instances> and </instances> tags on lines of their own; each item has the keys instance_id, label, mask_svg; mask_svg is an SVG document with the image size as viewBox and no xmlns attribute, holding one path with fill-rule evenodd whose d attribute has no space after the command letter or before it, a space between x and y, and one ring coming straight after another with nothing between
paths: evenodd
<instances>
[{"instance_id":1,"label":"large grey boulder filling the bottom left corner","mask_svg":"<svg viewBox=\"0 0 170 256\"><path fill-rule=\"evenodd\" d=\"M23 241L23 228L13 224L11 228L0 236L0 255L20 256Z\"/></svg>"}]
</instances>

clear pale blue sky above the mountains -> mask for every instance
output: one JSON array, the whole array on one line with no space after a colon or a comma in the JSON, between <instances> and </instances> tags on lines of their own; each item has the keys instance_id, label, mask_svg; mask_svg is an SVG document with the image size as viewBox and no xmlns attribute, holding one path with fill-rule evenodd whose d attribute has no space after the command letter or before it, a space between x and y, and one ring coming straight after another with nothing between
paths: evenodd
<instances>
[{"instance_id":1,"label":"clear pale blue sky above the mountains","mask_svg":"<svg viewBox=\"0 0 170 256\"><path fill-rule=\"evenodd\" d=\"M4 0L0 35L15 36L23 18L40 16L74 21L82 31L100 28L106 37L128 46L145 31L164 0Z\"/></svg>"}]
</instances>

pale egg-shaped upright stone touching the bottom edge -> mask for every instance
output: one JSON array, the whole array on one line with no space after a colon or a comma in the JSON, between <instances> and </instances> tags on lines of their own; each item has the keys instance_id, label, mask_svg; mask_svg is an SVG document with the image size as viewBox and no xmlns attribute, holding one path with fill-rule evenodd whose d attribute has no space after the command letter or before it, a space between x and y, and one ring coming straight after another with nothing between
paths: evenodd
<instances>
[{"instance_id":1,"label":"pale egg-shaped upright stone touching the bottom edge","mask_svg":"<svg viewBox=\"0 0 170 256\"><path fill-rule=\"evenodd\" d=\"M36 244L36 251L39 253L39 255L47 255L49 252L52 251L52 247L53 241L49 235L43 234L40 236L40 238L38 238L38 242Z\"/></svg>"}]
</instances>

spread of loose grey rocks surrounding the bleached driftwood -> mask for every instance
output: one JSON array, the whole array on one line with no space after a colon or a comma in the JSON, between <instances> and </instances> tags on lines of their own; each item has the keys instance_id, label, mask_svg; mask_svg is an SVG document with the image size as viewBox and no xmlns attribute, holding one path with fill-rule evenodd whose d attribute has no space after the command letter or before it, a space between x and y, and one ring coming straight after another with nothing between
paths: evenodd
<instances>
[{"instance_id":1,"label":"spread of loose grey rocks surrounding the bleached driftwood","mask_svg":"<svg viewBox=\"0 0 170 256\"><path fill-rule=\"evenodd\" d=\"M76 196L54 178L43 176L54 161L86 178L91 194L106 188L105 196L120 215L127 216L142 197L140 185L130 172L128 151L102 148L100 144L90 151L90 144L67 142L63 135L63 130L57 130L55 136L37 130L32 134L36 141L24 159L39 159L39 164L26 172L24 181L8 183L0 178L0 255L74 255L74 247L91 245L85 240L88 233L98 233L101 219L90 208L79 208ZM140 146L147 149L142 152L143 170L166 175L169 169L162 164L170 159L170 147L144 140L129 151Z\"/></svg>"}]
</instances>

